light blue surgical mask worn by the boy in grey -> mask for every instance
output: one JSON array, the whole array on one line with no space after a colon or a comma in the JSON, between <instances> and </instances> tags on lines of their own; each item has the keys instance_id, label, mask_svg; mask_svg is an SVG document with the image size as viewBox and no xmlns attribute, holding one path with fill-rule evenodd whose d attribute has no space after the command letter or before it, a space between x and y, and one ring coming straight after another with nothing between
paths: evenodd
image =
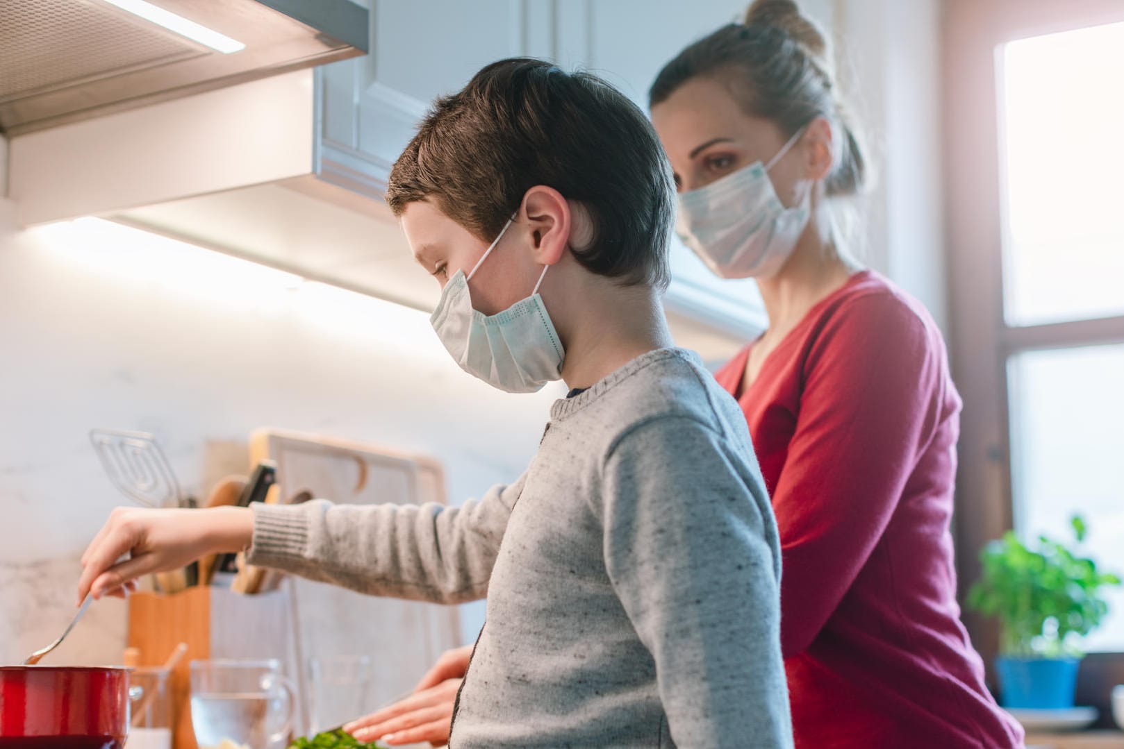
<instances>
[{"instance_id":1,"label":"light blue surgical mask worn by the boy in grey","mask_svg":"<svg viewBox=\"0 0 1124 749\"><path fill-rule=\"evenodd\" d=\"M472 307L469 280L504 238L515 218L508 219L499 236L469 275L457 271L441 292L441 302L429 322L461 368L492 387L509 393L533 393L562 376L565 353L551 322L538 286L550 266L543 267L531 296L498 314L484 314Z\"/></svg>"}]
</instances>

